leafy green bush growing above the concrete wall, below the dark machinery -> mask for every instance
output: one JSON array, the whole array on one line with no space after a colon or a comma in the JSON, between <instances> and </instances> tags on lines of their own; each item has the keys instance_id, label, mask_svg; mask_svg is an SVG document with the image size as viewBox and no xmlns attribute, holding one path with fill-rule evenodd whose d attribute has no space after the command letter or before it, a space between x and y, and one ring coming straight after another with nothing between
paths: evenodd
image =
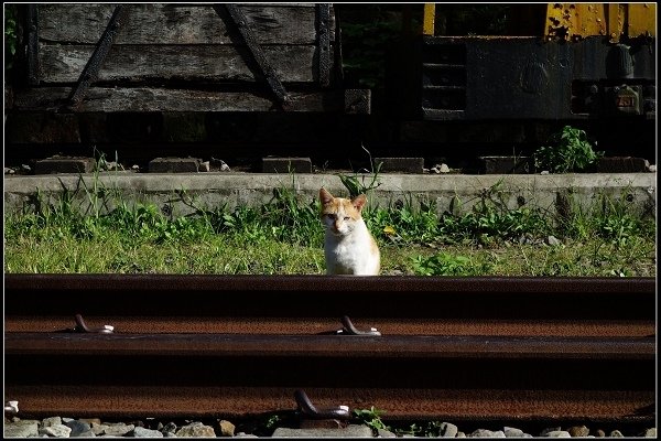
<instances>
[{"instance_id":1,"label":"leafy green bush growing above the concrete wall, below the dark machinery","mask_svg":"<svg viewBox=\"0 0 661 441\"><path fill-rule=\"evenodd\" d=\"M562 131L553 133L551 146L540 147L534 153L534 165L538 170L552 173L571 173L585 171L604 152L595 152L584 130L565 126Z\"/></svg>"}]
</instances>

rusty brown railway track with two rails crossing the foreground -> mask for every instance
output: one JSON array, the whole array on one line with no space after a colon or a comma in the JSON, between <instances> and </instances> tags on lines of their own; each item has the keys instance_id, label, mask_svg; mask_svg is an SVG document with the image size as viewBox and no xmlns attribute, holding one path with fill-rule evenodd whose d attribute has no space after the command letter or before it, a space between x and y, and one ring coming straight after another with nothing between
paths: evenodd
<instances>
[{"instance_id":1,"label":"rusty brown railway track with two rails crossing the foreground","mask_svg":"<svg viewBox=\"0 0 661 441\"><path fill-rule=\"evenodd\" d=\"M389 420L655 418L652 278L6 275L4 290L4 396L33 417L245 418L302 390Z\"/></svg>"}]
</instances>

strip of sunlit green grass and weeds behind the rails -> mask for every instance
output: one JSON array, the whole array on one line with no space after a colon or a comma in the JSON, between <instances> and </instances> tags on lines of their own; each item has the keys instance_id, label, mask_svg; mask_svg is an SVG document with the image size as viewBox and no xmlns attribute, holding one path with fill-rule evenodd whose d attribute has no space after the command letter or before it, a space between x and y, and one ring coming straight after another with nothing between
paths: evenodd
<instances>
[{"instance_id":1,"label":"strip of sunlit green grass and weeds behind the rails","mask_svg":"<svg viewBox=\"0 0 661 441\"><path fill-rule=\"evenodd\" d=\"M4 216L8 273L321 275L325 272L318 202L277 189L260 207L197 208L187 216L155 205L106 204L85 189L93 209L65 194L56 203ZM100 193L96 193L100 192ZM100 196L99 196L100 194ZM115 197L115 196L112 196ZM112 211L99 207L115 206ZM413 201L365 212L383 275L655 276L655 223L624 201L597 198L562 217L485 200L463 215L437 215ZM548 245L549 236L560 239Z\"/></svg>"}]
</instances>

